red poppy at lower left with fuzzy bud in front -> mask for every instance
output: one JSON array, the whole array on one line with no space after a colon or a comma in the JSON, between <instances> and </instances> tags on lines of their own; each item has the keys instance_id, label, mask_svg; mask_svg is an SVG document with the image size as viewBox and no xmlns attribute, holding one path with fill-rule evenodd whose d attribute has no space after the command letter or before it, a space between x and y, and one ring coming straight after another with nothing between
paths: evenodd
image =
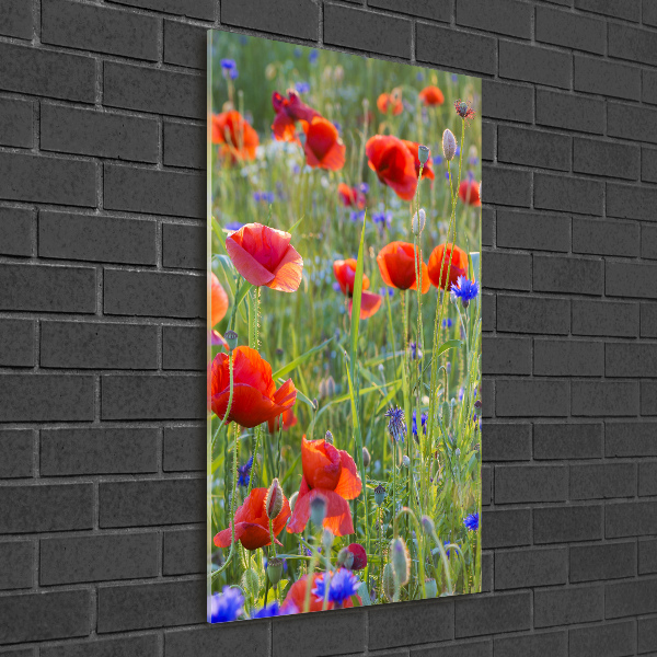
<instances>
[{"instance_id":1,"label":"red poppy at lower left with fuzzy bud in front","mask_svg":"<svg viewBox=\"0 0 657 657\"><path fill-rule=\"evenodd\" d=\"M257 550L272 544L269 535L269 518L265 512L267 488L253 488L244 504L235 512L235 541L240 541L246 550ZM274 541L280 545L276 537L283 531L290 517L290 503L283 496L283 510L273 521ZM230 548L231 527L215 535L217 548Z\"/></svg>"}]
</instances>

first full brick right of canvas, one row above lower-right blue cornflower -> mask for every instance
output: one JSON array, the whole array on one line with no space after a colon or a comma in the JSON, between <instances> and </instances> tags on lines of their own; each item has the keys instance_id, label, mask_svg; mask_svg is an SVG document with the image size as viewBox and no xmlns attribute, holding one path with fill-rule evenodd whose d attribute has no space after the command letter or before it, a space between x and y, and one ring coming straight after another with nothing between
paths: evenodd
<instances>
[{"instance_id":1,"label":"first full brick right of canvas, one row above lower-right blue cornflower","mask_svg":"<svg viewBox=\"0 0 657 657\"><path fill-rule=\"evenodd\" d=\"M497 465L495 504L565 502L568 469L563 465Z\"/></svg>"}]
</instances>

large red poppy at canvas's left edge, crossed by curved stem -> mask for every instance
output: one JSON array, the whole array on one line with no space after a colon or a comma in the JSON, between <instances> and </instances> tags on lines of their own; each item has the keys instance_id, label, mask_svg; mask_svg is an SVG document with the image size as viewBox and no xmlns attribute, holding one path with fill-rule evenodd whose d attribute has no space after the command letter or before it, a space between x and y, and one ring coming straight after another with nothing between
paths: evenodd
<instances>
[{"instance_id":1,"label":"large red poppy at canvas's left edge, crossed by curved stem","mask_svg":"<svg viewBox=\"0 0 657 657\"><path fill-rule=\"evenodd\" d=\"M272 366L250 347L233 349L233 399L228 422L252 428L289 411L297 401L297 389L288 379L278 390ZM217 354L210 370L210 403L217 417L226 415L230 397L229 355Z\"/></svg>"}]
</instances>

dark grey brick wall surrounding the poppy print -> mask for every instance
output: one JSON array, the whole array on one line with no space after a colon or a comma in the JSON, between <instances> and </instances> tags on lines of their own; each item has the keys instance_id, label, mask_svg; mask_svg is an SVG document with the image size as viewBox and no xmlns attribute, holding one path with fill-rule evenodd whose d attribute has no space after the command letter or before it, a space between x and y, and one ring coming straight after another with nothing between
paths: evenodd
<instances>
[{"instance_id":1,"label":"dark grey brick wall surrounding the poppy print","mask_svg":"<svg viewBox=\"0 0 657 657\"><path fill-rule=\"evenodd\" d=\"M484 589L205 624L205 37L484 79ZM2 0L0 654L657 654L657 1Z\"/></svg>"}]
</instances>

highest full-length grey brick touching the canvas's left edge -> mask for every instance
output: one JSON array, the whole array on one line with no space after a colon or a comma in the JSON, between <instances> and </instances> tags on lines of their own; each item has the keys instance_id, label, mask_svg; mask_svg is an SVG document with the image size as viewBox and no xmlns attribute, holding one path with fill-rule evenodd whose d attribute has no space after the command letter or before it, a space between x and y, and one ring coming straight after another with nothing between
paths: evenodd
<instances>
[{"instance_id":1,"label":"highest full-length grey brick touching the canvas's left edge","mask_svg":"<svg viewBox=\"0 0 657 657\"><path fill-rule=\"evenodd\" d=\"M185 118L205 117L205 77L199 73L106 61L103 76L104 105Z\"/></svg>"}]
</instances>

